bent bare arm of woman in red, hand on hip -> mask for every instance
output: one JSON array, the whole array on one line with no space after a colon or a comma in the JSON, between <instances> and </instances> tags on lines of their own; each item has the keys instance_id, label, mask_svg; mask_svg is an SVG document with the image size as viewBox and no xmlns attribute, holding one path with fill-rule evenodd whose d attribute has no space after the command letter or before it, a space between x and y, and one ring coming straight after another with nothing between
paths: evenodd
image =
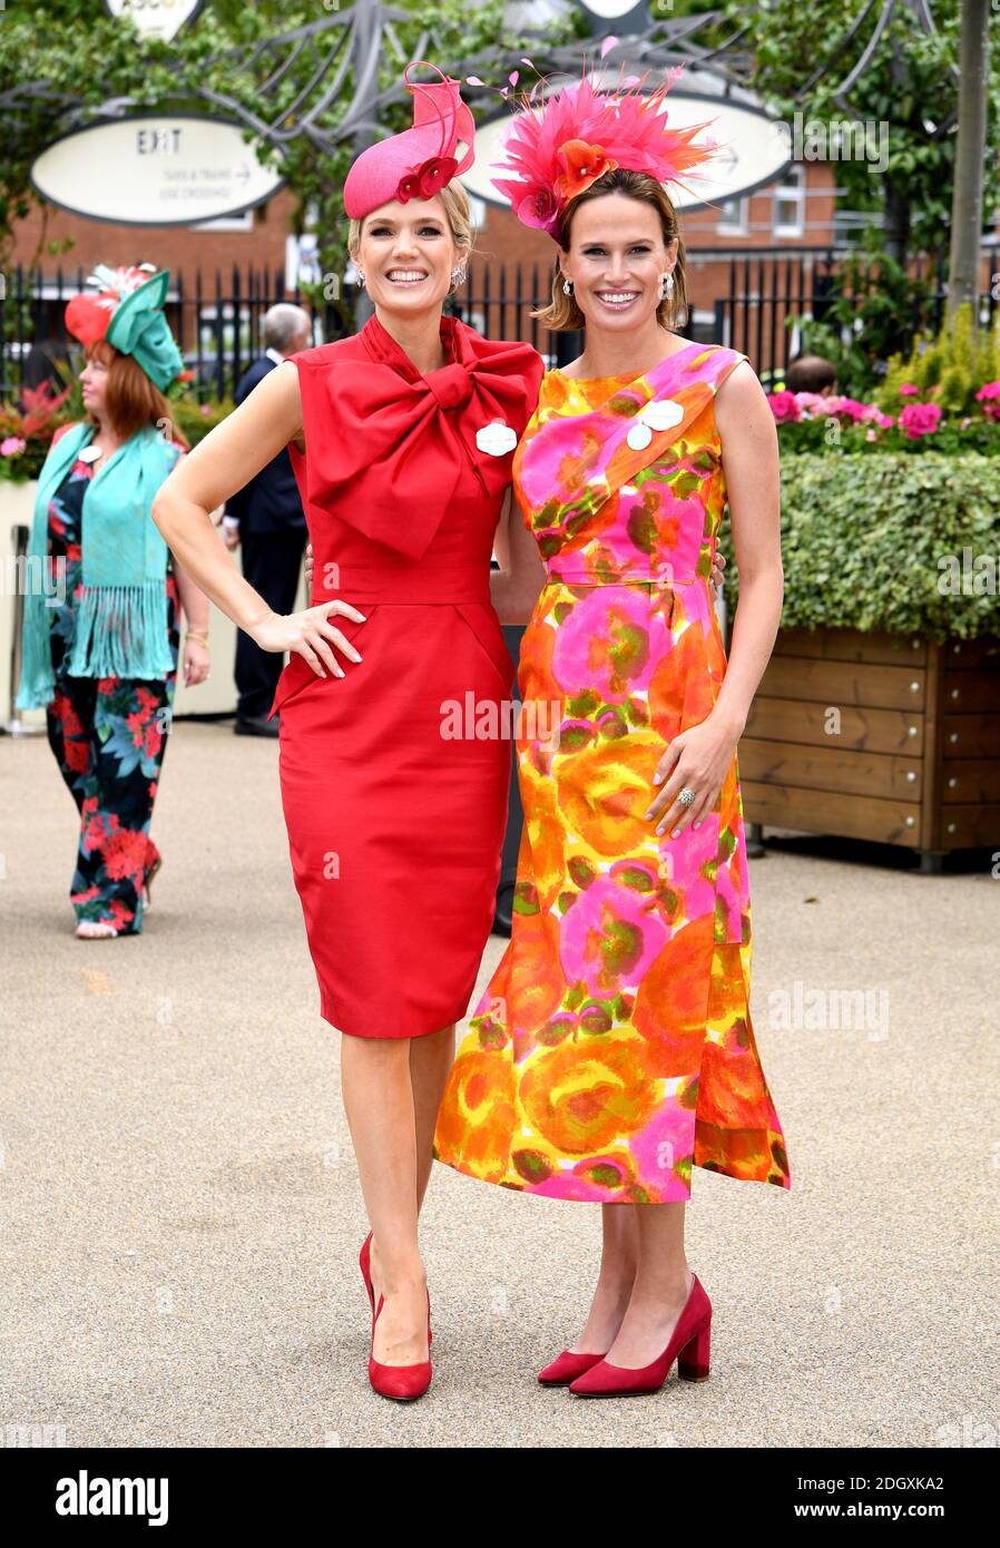
<instances>
[{"instance_id":1,"label":"bent bare arm of woman in red, hand on hip","mask_svg":"<svg viewBox=\"0 0 1000 1548\"><path fill-rule=\"evenodd\" d=\"M317 676L325 676L322 663L344 676L330 646L351 661L361 656L327 618L334 611L364 622L364 615L333 601L279 616L235 568L209 517L300 432L299 372L285 361L178 461L153 500L153 522L195 585L263 650L296 650Z\"/></svg>"}]
</instances>

